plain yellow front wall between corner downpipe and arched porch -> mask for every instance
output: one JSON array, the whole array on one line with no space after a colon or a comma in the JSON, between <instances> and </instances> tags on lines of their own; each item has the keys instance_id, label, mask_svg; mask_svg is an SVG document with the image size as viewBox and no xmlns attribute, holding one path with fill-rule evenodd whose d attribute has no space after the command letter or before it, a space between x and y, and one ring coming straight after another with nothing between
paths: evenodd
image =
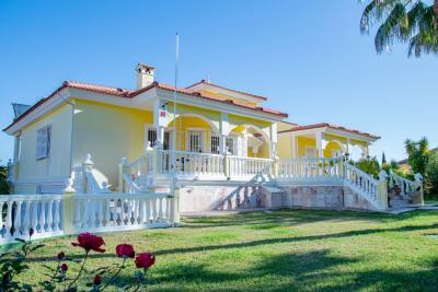
<instances>
[{"instance_id":1,"label":"plain yellow front wall between corner downpipe and arched porch","mask_svg":"<svg viewBox=\"0 0 438 292\"><path fill-rule=\"evenodd\" d=\"M73 165L90 153L95 167L116 186L120 159L132 161L143 153L145 125L152 122L152 112L77 100Z\"/></svg>"}]
</instances>

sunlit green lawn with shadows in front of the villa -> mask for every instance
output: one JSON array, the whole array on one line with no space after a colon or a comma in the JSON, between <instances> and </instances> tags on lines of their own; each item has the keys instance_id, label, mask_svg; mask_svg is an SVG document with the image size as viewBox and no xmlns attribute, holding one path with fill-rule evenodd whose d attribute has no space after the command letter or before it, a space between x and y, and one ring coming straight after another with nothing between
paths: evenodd
<instances>
[{"instance_id":1,"label":"sunlit green lawn with shadows in front of the villa","mask_svg":"<svg viewBox=\"0 0 438 292\"><path fill-rule=\"evenodd\" d=\"M435 211L246 213L104 234L107 253L93 254L91 264L116 262L115 245L131 243L157 255L151 291L437 291L438 238L429 234L438 234ZM42 264L54 266L58 250L80 255L72 241L46 241L25 280L41 279Z\"/></svg>"}]
</instances>

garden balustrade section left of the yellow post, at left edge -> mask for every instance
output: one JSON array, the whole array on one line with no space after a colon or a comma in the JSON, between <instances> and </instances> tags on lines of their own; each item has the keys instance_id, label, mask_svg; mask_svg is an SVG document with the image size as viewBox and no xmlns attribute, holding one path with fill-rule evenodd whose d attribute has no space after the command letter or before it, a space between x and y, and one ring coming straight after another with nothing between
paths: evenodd
<instances>
[{"instance_id":1,"label":"garden balustrade section left of the yellow post, at left edge","mask_svg":"<svg viewBox=\"0 0 438 292\"><path fill-rule=\"evenodd\" d=\"M0 244L62 234L62 195L0 196Z\"/></svg>"}]
</instances>

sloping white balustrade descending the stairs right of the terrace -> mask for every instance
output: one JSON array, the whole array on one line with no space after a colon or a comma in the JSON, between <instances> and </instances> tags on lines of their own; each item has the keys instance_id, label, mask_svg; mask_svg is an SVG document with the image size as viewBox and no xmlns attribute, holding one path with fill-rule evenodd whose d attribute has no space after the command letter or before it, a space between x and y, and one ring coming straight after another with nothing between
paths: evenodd
<instances>
[{"instance_id":1,"label":"sloping white balustrade descending the stairs right of the terrace","mask_svg":"<svg viewBox=\"0 0 438 292\"><path fill-rule=\"evenodd\" d=\"M364 196L373 207L379 208L379 182L374 179L371 175L349 163L344 163L344 165L345 183L354 190L358 191L361 196Z\"/></svg>"}]
</instances>

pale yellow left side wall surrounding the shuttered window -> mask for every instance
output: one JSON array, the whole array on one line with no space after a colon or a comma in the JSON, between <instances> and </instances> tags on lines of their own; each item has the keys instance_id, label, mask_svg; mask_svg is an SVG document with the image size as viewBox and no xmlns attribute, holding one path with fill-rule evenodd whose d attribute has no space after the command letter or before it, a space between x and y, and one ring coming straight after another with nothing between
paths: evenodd
<instances>
[{"instance_id":1,"label":"pale yellow left side wall surrounding the shuttered window","mask_svg":"<svg viewBox=\"0 0 438 292\"><path fill-rule=\"evenodd\" d=\"M71 106L62 105L25 127L21 132L19 180L57 180L70 176ZM51 126L49 157L36 160L37 130ZM15 194L34 192L35 187L18 185Z\"/></svg>"}]
</instances>

